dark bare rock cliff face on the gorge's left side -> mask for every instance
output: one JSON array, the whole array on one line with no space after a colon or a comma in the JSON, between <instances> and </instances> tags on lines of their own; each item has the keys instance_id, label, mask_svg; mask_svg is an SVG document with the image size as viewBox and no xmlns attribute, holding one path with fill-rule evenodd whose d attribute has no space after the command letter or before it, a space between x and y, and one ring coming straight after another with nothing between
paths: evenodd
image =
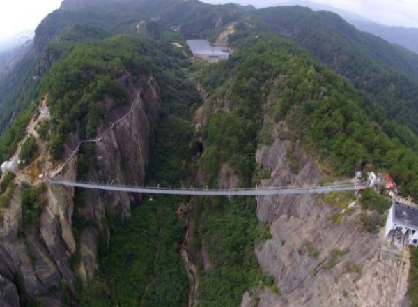
<instances>
[{"instance_id":1,"label":"dark bare rock cliff face on the gorge's left side","mask_svg":"<svg viewBox=\"0 0 418 307\"><path fill-rule=\"evenodd\" d=\"M95 163L88 180L144 184L145 167L150 156L150 129L160 108L159 89L152 77L143 77L134 86L132 105L109 113L111 126L101 130L97 140L84 146L95 148ZM141 87L140 94L138 94ZM111 107L112 100L105 102ZM68 137L67 157L77 135ZM72 155L57 177L77 177L78 152ZM94 166L93 166L94 165ZM38 227L22 237L20 188L0 223L0 305L19 306L21 298L36 298L45 306L61 306L63 294L74 294L77 278L86 283L97 269L98 241L109 241L106 217L127 218L137 195L88 190L84 201L74 202L75 190L48 185L47 206ZM79 198L78 198L79 199ZM74 214L87 221L75 229Z\"/></svg>"}]
</instances>

